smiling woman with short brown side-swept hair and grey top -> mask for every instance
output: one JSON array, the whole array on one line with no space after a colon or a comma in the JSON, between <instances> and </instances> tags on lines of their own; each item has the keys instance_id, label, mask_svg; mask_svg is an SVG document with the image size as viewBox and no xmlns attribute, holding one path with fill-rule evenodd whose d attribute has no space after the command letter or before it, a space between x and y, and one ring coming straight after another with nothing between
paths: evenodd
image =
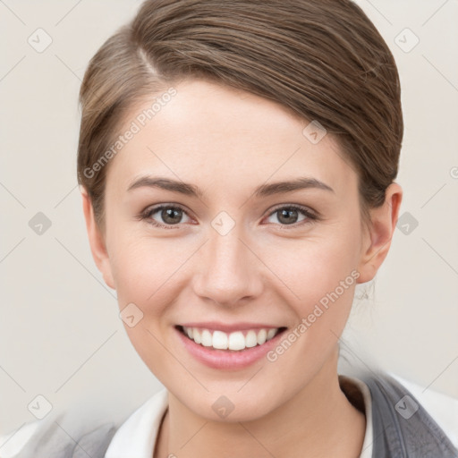
<instances>
[{"instance_id":1,"label":"smiling woman with short brown side-swept hair and grey top","mask_svg":"<svg viewBox=\"0 0 458 458\"><path fill-rule=\"evenodd\" d=\"M403 195L399 78L358 6L149 0L91 60L81 106L92 255L165 390L35 453L458 455L392 378L337 373Z\"/></svg>"}]
</instances>

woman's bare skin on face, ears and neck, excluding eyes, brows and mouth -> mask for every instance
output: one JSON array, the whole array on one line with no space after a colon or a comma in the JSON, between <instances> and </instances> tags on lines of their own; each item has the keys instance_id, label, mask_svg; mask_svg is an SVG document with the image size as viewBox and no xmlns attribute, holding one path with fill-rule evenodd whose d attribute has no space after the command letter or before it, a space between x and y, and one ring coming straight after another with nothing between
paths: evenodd
<instances>
[{"instance_id":1,"label":"woman's bare skin on face, ears and neck, excluding eyes, brows and mouth","mask_svg":"<svg viewBox=\"0 0 458 458\"><path fill-rule=\"evenodd\" d=\"M143 312L136 326L124 327L169 393L153 458L359 456L365 416L339 387L338 338L355 285L371 280L386 258L401 187L388 187L367 227L357 174L331 135L312 144L302 134L308 122L246 92L198 80L174 88L176 96L108 165L104 231L81 191L95 262L117 291L120 310L133 302ZM144 102L132 108L125 126L151 105ZM203 195L126 191L143 174L193 183ZM301 176L334 192L253 196L261 184ZM161 203L186 211L172 229L136 217ZM291 204L320 219L304 224L299 213L297 222L285 224L274 209ZM235 222L224 236L211 225L221 211ZM151 219L165 223L160 211ZM274 362L210 369L191 357L174 329L216 320L293 330L355 269L357 281ZM223 394L234 405L225 419L212 410Z\"/></svg>"}]
</instances>

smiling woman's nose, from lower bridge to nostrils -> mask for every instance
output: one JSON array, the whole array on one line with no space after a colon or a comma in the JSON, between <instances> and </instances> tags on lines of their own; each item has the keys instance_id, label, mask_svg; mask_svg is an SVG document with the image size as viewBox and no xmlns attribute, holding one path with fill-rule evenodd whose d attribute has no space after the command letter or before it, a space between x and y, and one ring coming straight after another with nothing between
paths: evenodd
<instances>
[{"instance_id":1,"label":"smiling woman's nose, from lower bridge to nostrils","mask_svg":"<svg viewBox=\"0 0 458 458\"><path fill-rule=\"evenodd\" d=\"M193 279L194 293L226 307L253 300L263 284L263 264L236 228L225 235L210 233L197 260L199 274Z\"/></svg>"}]
</instances>

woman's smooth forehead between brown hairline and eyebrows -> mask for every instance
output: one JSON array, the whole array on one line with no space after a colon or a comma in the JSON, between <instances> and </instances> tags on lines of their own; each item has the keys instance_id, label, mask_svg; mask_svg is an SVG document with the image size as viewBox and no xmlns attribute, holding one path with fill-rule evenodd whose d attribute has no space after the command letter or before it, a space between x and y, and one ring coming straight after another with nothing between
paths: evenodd
<instances>
[{"instance_id":1,"label":"woman's smooth forehead between brown hairline and eyebrows","mask_svg":"<svg viewBox=\"0 0 458 458\"><path fill-rule=\"evenodd\" d=\"M164 97L165 89L125 116L121 133L135 133L112 159L108 182L125 191L135 177L160 174L217 182L227 191L308 175L345 191L356 181L335 140L311 142L303 132L309 122L284 106L208 81L173 89L173 96Z\"/></svg>"}]
</instances>

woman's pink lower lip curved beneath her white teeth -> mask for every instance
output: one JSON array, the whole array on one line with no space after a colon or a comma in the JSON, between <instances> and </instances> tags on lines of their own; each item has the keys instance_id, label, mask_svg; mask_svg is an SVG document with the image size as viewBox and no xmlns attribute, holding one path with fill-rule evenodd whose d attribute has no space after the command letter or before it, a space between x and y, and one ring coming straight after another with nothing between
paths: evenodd
<instances>
[{"instance_id":1,"label":"woman's pink lower lip curved beneath her white teeth","mask_svg":"<svg viewBox=\"0 0 458 458\"><path fill-rule=\"evenodd\" d=\"M284 334L284 330L279 332L277 335L272 337L270 340L262 345L256 345L255 347L245 348L245 350L216 350L213 347L204 347L200 344L196 344L189 337L184 335L176 327L175 332L178 333L182 344L191 353L191 355L199 360L206 366L213 369L243 369L255 361L260 360L266 353L276 346L281 336Z\"/></svg>"}]
</instances>

